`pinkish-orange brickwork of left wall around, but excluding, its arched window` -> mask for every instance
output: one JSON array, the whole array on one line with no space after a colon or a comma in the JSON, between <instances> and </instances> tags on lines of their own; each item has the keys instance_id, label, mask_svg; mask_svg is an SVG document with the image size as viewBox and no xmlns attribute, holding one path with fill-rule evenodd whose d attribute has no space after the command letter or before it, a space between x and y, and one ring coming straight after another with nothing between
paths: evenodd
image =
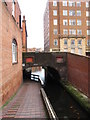
<instances>
[{"instance_id":1,"label":"pinkish-orange brickwork of left wall around, but excluding, its arched window","mask_svg":"<svg viewBox=\"0 0 90 120\"><path fill-rule=\"evenodd\" d=\"M2 3L2 104L4 104L22 83L22 34L15 20ZM12 40L18 45L18 63L12 64Z\"/></svg>"}]
</instances>

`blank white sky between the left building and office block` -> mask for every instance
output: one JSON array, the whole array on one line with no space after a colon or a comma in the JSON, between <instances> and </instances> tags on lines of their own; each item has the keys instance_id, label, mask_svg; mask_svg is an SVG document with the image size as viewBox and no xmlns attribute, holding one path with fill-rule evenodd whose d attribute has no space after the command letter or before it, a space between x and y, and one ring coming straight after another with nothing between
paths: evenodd
<instances>
[{"instance_id":1,"label":"blank white sky between the left building and office block","mask_svg":"<svg viewBox=\"0 0 90 120\"><path fill-rule=\"evenodd\" d=\"M22 15L26 17L27 47L43 48L43 15L47 0L18 0Z\"/></svg>"}]
</instances>

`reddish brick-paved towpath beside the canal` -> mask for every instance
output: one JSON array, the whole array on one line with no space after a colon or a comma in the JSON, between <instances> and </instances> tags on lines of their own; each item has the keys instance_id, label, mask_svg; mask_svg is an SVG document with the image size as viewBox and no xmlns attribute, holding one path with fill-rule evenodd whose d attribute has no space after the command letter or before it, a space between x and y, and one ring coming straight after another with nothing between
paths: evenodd
<instances>
[{"instance_id":1,"label":"reddish brick-paved towpath beside the canal","mask_svg":"<svg viewBox=\"0 0 90 120\"><path fill-rule=\"evenodd\" d=\"M3 118L48 118L40 84L24 83L14 99L2 110Z\"/></svg>"}]
</instances>

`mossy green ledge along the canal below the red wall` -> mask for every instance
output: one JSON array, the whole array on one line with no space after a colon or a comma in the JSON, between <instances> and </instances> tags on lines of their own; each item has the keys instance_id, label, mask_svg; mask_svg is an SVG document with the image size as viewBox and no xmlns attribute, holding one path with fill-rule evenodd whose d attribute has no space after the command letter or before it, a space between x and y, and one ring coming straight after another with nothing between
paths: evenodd
<instances>
[{"instance_id":1,"label":"mossy green ledge along the canal below the red wall","mask_svg":"<svg viewBox=\"0 0 90 120\"><path fill-rule=\"evenodd\" d=\"M90 113L90 99L73 87L68 81L60 81L62 86L69 92L72 97Z\"/></svg>"}]
</instances>

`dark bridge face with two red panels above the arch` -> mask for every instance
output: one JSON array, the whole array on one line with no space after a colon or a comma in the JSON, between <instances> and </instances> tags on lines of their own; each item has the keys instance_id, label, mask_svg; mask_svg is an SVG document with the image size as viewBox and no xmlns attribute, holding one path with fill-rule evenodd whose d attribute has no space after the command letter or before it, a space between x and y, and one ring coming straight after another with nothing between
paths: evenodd
<instances>
[{"instance_id":1,"label":"dark bridge face with two red panels above the arch","mask_svg":"<svg viewBox=\"0 0 90 120\"><path fill-rule=\"evenodd\" d=\"M23 70L42 66L45 71L58 71L61 79L67 78L67 53L61 52L26 52L23 53ZM55 74L53 73L52 74Z\"/></svg>"}]
</instances>

